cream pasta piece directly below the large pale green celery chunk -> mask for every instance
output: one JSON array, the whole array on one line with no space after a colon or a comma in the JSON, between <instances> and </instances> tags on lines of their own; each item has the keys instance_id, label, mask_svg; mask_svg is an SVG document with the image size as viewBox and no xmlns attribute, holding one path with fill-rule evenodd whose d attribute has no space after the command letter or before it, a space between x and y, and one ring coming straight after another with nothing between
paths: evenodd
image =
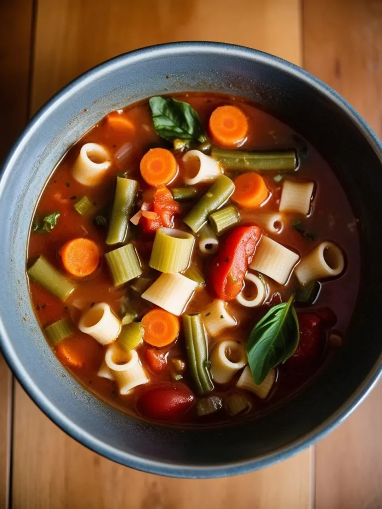
<instances>
[{"instance_id":1,"label":"cream pasta piece directly below the large pale green celery chunk","mask_svg":"<svg viewBox=\"0 0 382 509\"><path fill-rule=\"evenodd\" d=\"M179 316L197 287L196 281L182 274L163 273L142 294L142 298Z\"/></svg>"}]
</instances>

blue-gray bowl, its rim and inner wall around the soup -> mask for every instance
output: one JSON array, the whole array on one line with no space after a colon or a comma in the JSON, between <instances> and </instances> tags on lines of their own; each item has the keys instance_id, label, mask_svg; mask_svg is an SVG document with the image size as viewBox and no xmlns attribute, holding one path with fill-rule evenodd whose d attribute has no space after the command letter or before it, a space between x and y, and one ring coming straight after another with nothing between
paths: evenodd
<instances>
[{"instance_id":1,"label":"blue-gray bowl, its rim and inner wall around the soup","mask_svg":"<svg viewBox=\"0 0 382 509\"><path fill-rule=\"evenodd\" d=\"M310 140L342 180L361 220L362 284L340 355L287 404L217 429L156 426L110 408L54 357L25 276L38 196L68 148L108 111L152 95L215 91L255 99ZM0 181L0 334L3 353L37 405L73 438L130 467L180 477L247 472L283 460L337 426L381 371L381 145L336 92L259 51L215 43L145 48L101 64L51 99L21 134Z\"/></svg>"}]
</instances>

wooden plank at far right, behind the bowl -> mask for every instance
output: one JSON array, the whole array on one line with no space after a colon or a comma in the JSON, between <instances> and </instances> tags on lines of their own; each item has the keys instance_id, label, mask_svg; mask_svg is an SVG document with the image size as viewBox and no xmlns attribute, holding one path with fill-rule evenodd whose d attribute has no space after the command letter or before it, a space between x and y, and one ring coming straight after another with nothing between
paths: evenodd
<instances>
[{"instance_id":1,"label":"wooden plank at far right, behind the bowl","mask_svg":"<svg viewBox=\"0 0 382 509\"><path fill-rule=\"evenodd\" d=\"M382 2L304 0L304 66L382 136ZM317 509L382 507L382 383L316 446Z\"/></svg>"}]
</instances>

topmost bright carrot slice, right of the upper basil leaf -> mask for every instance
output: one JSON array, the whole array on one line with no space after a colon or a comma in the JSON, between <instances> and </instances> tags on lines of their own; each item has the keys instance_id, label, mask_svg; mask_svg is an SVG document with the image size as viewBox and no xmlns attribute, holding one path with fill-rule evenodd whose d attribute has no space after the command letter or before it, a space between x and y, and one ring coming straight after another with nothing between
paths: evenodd
<instances>
[{"instance_id":1,"label":"topmost bright carrot slice, right of the upper basil leaf","mask_svg":"<svg viewBox=\"0 0 382 509\"><path fill-rule=\"evenodd\" d=\"M248 135L248 120L237 106L219 106L209 118L213 141L223 147L237 147Z\"/></svg>"}]
</instances>

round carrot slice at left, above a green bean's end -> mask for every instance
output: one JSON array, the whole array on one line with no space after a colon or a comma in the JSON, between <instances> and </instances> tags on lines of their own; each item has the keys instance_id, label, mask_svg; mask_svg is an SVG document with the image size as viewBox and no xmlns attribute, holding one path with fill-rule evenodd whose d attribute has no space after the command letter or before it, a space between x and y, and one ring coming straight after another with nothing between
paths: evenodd
<instances>
[{"instance_id":1,"label":"round carrot slice at left, above a green bean's end","mask_svg":"<svg viewBox=\"0 0 382 509\"><path fill-rule=\"evenodd\" d=\"M65 270L75 277L89 276L99 265L98 246L90 239L79 237L68 240L59 254Z\"/></svg>"}]
</instances>

